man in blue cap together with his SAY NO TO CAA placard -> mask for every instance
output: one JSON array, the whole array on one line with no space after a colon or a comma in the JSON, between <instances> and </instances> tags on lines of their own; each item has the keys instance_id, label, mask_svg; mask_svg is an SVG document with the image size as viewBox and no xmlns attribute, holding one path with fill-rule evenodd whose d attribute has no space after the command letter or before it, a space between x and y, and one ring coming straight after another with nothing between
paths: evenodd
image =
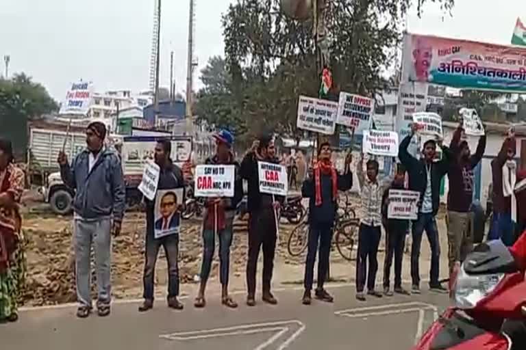
<instances>
[{"instance_id":1,"label":"man in blue cap together with his SAY NO TO CAA placard","mask_svg":"<svg viewBox=\"0 0 526 350\"><path fill-rule=\"evenodd\" d=\"M201 285L195 299L196 308L204 308L205 288L214 258L215 237L219 240L219 280L222 286L221 303L229 308L238 304L228 295L230 245L232 243L236 207L243 198L243 183L240 165L231 153L234 136L223 130L216 135L216 154L197 165L195 196L208 197L203 215L203 264ZM207 166L210 165L210 166Z\"/></svg>"}]
</instances>

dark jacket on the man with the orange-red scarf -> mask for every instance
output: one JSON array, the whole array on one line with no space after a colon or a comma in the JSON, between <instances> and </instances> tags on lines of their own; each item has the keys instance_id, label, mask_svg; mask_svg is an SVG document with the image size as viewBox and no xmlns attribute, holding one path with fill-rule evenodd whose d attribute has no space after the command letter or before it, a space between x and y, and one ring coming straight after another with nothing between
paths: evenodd
<instances>
[{"instance_id":1,"label":"dark jacket on the man with the orange-red scarf","mask_svg":"<svg viewBox=\"0 0 526 350\"><path fill-rule=\"evenodd\" d=\"M343 175L338 174L338 191L348 191L353 187L353 173L347 169ZM321 206L316 206L316 185L314 178L303 182L301 195L309 200L309 223L314 225L333 226L338 210L338 203L332 198L332 178L329 174L321 174Z\"/></svg>"}]
</instances>

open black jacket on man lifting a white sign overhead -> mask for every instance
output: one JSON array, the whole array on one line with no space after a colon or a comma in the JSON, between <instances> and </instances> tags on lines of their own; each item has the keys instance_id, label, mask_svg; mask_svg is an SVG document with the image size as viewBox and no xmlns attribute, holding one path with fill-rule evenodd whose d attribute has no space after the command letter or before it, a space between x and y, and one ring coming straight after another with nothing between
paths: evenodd
<instances>
[{"instance_id":1,"label":"open black jacket on man lifting a white sign overhead","mask_svg":"<svg viewBox=\"0 0 526 350\"><path fill-rule=\"evenodd\" d=\"M416 159L408 152L408 146L412 135L408 135L400 144L398 157L409 174L409 189L420 192L418 208L422 206L425 188L427 187L427 173L425 171L425 161ZM431 202L433 203L433 215L438 213L440 206L440 181L447 174L451 152L446 146L442 146L442 160L431 162Z\"/></svg>"}]
</instances>

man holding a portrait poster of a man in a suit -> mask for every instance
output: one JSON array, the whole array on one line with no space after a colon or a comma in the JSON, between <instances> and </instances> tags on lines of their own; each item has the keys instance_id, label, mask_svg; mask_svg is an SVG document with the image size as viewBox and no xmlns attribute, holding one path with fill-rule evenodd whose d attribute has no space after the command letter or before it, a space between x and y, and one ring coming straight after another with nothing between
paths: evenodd
<instances>
[{"instance_id":1,"label":"man holding a portrait poster of a man in a suit","mask_svg":"<svg viewBox=\"0 0 526 350\"><path fill-rule=\"evenodd\" d=\"M183 173L170 159L172 144L161 139L155 146L155 163L159 166L155 198L146 202L145 270L142 277L145 301L140 312L153 308L155 264L162 245L168 261L168 307L182 310L179 295L179 230L181 206L184 203Z\"/></svg>"}]
</instances>

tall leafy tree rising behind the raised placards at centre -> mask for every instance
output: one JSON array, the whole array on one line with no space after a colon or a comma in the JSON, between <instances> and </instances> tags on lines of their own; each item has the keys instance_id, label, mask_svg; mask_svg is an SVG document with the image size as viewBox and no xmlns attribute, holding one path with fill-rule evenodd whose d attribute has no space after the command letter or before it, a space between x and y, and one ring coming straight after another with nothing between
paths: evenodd
<instances>
[{"instance_id":1,"label":"tall leafy tree rising behind the raised placards at centre","mask_svg":"<svg viewBox=\"0 0 526 350\"><path fill-rule=\"evenodd\" d=\"M453 6L453 0L418 0L418 14L429 2L440 3L444 11ZM383 72L397 54L411 5L411 0L331 1L333 96L340 90L376 96L388 85ZM229 92L240 99L236 108L249 132L264 126L294 134L299 94L316 96L319 87L312 21L286 17L279 0L238 0L223 16L223 35Z\"/></svg>"}]
</instances>

